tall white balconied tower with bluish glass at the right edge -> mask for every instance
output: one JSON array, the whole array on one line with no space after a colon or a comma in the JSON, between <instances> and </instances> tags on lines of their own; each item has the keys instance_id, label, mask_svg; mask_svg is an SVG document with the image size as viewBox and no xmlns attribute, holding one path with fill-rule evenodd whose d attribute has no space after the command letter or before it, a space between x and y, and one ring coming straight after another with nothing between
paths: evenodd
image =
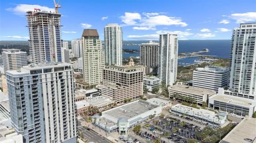
<instances>
[{"instance_id":1,"label":"tall white balconied tower with bluish glass at the right edge","mask_svg":"<svg viewBox=\"0 0 256 143\"><path fill-rule=\"evenodd\" d=\"M233 30L229 89L256 94L256 23L243 23Z\"/></svg>"}]
</instances>

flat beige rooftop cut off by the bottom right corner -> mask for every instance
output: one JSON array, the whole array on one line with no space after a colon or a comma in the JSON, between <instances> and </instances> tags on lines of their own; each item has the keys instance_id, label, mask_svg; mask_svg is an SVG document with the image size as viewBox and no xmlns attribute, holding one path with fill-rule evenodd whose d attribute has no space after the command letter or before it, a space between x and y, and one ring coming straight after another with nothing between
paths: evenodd
<instances>
[{"instance_id":1,"label":"flat beige rooftop cut off by the bottom right corner","mask_svg":"<svg viewBox=\"0 0 256 143\"><path fill-rule=\"evenodd\" d=\"M247 143L246 138L254 139L256 137L256 118L245 118L227 136L221 143L239 142Z\"/></svg>"}]
</instances>

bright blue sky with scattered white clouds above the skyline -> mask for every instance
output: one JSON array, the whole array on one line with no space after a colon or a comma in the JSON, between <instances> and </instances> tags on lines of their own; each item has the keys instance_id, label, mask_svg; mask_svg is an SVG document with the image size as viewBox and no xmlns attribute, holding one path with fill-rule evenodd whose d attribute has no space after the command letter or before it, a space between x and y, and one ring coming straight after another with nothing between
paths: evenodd
<instances>
[{"instance_id":1,"label":"bright blue sky with scattered white clouds above the skyline","mask_svg":"<svg viewBox=\"0 0 256 143\"><path fill-rule=\"evenodd\" d=\"M103 40L108 23L123 27L124 40L157 40L161 33L179 39L230 39L232 29L256 21L251 0L60 0L62 39L81 38L83 29L97 29ZM0 1L0 40L27 40L25 12L52 10L51 0Z\"/></svg>"}]
</instances>

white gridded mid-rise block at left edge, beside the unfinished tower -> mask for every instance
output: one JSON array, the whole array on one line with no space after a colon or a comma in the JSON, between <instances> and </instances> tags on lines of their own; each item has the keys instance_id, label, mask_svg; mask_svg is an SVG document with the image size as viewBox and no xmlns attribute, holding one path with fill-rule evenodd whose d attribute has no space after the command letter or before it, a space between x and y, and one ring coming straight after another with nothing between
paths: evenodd
<instances>
[{"instance_id":1,"label":"white gridded mid-rise block at left edge, beside the unfinished tower","mask_svg":"<svg viewBox=\"0 0 256 143\"><path fill-rule=\"evenodd\" d=\"M27 53L20 49L3 49L2 59L4 71L19 70L22 66L28 65Z\"/></svg>"}]
</instances>

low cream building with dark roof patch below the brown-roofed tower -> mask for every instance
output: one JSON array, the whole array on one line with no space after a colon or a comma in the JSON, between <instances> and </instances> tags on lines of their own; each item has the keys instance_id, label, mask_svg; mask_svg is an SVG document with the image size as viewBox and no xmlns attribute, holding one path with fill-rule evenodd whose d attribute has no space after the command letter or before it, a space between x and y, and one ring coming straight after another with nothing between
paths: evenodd
<instances>
[{"instance_id":1,"label":"low cream building with dark roof patch below the brown-roofed tower","mask_svg":"<svg viewBox=\"0 0 256 143\"><path fill-rule=\"evenodd\" d=\"M75 92L75 101L81 101L81 100L86 100L88 98L93 98L100 96L100 92L97 89L90 89L90 90L85 90L85 89L79 89L76 90Z\"/></svg>"}]
</instances>

